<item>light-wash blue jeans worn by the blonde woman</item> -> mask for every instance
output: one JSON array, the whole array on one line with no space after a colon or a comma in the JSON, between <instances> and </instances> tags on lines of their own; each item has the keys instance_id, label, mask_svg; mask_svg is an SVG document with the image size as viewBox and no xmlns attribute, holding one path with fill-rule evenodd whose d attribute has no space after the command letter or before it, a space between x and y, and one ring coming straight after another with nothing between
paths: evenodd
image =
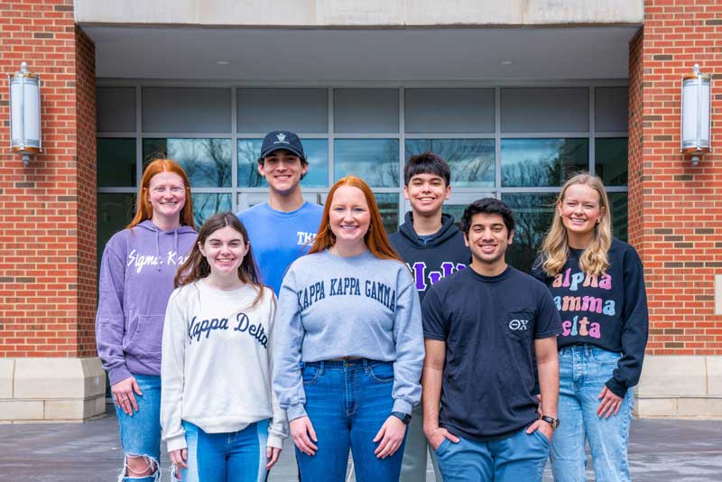
<instances>
[{"instance_id":1,"label":"light-wash blue jeans worn by the blonde woman","mask_svg":"<svg viewBox=\"0 0 722 482\"><path fill-rule=\"evenodd\" d=\"M556 482L586 480L585 440L598 482L630 479L626 450L634 406L632 389L627 390L616 415L608 419L597 416L597 397L620 357L591 345L560 349L560 426L551 443L551 470Z\"/></svg>"}]
</instances>

